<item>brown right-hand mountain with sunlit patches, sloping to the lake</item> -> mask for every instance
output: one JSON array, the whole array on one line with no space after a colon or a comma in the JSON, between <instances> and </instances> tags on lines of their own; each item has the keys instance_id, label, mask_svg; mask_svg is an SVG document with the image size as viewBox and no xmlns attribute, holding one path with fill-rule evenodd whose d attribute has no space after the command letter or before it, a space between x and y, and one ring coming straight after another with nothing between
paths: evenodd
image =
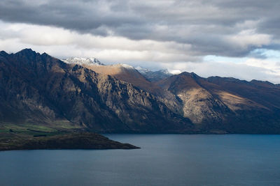
<instances>
[{"instance_id":1,"label":"brown right-hand mountain with sunlit patches, sloping to the lake","mask_svg":"<svg viewBox=\"0 0 280 186\"><path fill-rule=\"evenodd\" d=\"M214 83L214 80L188 72L158 82L158 86L174 93L182 100L183 116L190 118L193 123L201 125L204 129L238 133L279 131L278 112L272 111L271 107L268 107L269 104L262 104L267 102L261 98L265 94L260 90L254 91L244 84L240 84L241 87L221 86L224 84L223 80ZM249 91L246 91L246 88L249 88ZM276 91L275 88L272 90ZM258 96L254 99L253 95L257 93Z\"/></svg>"}]
</instances>

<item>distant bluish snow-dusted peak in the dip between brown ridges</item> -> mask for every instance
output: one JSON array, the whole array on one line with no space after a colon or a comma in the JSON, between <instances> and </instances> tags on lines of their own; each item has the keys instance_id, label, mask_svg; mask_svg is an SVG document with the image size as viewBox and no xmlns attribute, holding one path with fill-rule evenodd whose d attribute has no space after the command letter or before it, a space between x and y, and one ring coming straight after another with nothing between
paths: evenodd
<instances>
[{"instance_id":1,"label":"distant bluish snow-dusted peak in the dip between brown ridges","mask_svg":"<svg viewBox=\"0 0 280 186\"><path fill-rule=\"evenodd\" d=\"M146 79L148 79L151 82L158 82L161 79L165 79L167 77L172 76L172 73L170 73L167 69L165 70L158 70L158 71L152 71L148 70L147 68L136 68Z\"/></svg>"}]
</instances>

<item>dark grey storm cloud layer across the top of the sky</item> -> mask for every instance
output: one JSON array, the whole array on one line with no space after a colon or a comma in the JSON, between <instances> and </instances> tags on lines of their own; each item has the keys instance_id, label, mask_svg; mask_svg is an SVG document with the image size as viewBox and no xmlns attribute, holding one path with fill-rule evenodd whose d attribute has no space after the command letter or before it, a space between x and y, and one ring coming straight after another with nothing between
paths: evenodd
<instances>
[{"instance_id":1,"label":"dark grey storm cloud layer across the top of the sky","mask_svg":"<svg viewBox=\"0 0 280 186\"><path fill-rule=\"evenodd\" d=\"M197 56L246 56L279 45L271 41L280 36L279 9L278 0L1 0L0 19L99 36L174 41L191 45Z\"/></svg>"}]
</instances>

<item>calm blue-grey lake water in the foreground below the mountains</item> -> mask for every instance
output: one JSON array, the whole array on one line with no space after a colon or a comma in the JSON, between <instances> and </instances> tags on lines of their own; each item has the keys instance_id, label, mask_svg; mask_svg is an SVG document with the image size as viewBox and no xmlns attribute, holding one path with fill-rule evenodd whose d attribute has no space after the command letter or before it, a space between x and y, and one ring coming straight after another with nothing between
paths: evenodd
<instances>
[{"instance_id":1,"label":"calm blue-grey lake water in the foreground below the mountains","mask_svg":"<svg viewBox=\"0 0 280 186\"><path fill-rule=\"evenodd\" d=\"M280 135L106 136L141 149L0 152L0 185L280 185Z\"/></svg>"}]
</instances>

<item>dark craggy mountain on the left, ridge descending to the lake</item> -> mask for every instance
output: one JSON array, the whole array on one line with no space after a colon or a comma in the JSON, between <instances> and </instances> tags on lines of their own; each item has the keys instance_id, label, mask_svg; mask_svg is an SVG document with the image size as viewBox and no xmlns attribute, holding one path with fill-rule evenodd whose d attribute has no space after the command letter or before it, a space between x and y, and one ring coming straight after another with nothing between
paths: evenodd
<instances>
[{"instance_id":1,"label":"dark craggy mountain on the left, ridge descending to the lake","mask_svg":"<svg viewBox=\"0 0 280 186\"><path fill-rule=\"evenodd\" d=\"M31 49L0 52L0 94L2 123L94 132L184 132L193 127L133 84Z\"/></svg>"}]
</instances>

